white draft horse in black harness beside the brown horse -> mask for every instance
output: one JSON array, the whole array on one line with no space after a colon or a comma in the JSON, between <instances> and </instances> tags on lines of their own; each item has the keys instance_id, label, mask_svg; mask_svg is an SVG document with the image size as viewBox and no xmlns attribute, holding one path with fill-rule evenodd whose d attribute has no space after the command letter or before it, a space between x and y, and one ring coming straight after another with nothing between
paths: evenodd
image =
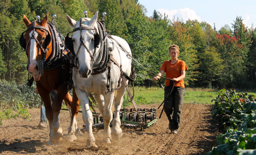
<instances>
[{"instance_id":1,"label":"white draft horse in black harness beside the brown horse","mask_svg":"<svg viewBox=\"0 0 256 155\"><path fill-rule=\"evenodd\" d=\"M92 122L93 117L89 107L89 94L94 93L96 101L99 104L99 110L103 115L104 131L102 142L111 143L110 138L117 140L122 136L122 130L120 128L121 121L119 118L119 110L122 105L123 95L126 91L124 86L120 87L121 82L121 71L130 75L132 59L131 50L128 43L118 37L112 36L108 39L109 47L113 47L110 54L116 60L117 63L110 61L108 67L110 67L110 80L108 81L108 69L102 73L96 73L94 67L101 61L101 46L103 42L99 41L99 30L97 26L98 11L93 18L80 18L79 21L75 21L66 15L66 20L69 25L74 29L72 36L73 52L75 53L75 61L77 66L73 67L73 83L75 87L76 95L81 103L82 107L82 118L86 125L88 137L87 144L89 146L96 146L95 138L92 133ZM67 38L67 37L66 37ZM71 41L71 40L70 40ZM65 40L66 44L66 40ZM121 47L121 46L122 47ZM119 64L119 66L117 65ZM126 83L128 80L126 80ZM118 88L117 96L114 97L114 91L106 93L107 84L109 88ZM112 103L114 99L115 114L112 121ZM77 106L78 107L78 106ZM72 114L73 120L75 120L76 114ZM113 126L110 130L110 121ZM73 123L74 124L74 123ZM75 126L71 124L70 131L75 131ZM70 132L74 133L74 132ZM74 136L74 135L73 135ZM97 147L97 146L96 146Z\"/></svg>"}]
</instances>

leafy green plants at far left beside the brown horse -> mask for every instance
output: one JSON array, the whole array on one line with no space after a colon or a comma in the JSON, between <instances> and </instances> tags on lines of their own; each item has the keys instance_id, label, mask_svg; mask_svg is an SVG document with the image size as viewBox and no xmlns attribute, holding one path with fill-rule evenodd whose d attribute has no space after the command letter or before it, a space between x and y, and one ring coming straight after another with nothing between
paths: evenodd
<instances>
[{"instance_id":1,"label":"leafy green plants at far left beside the brown horse","mask_svg":"<svg viewBox=\"0 0 256 155\"><path fill-rule=\"evenodd\" d=\"M30 118L27 108L39 107L41 101L35 87L0 82L0 125L3 119Z\"/></svg>"}]
</instances>

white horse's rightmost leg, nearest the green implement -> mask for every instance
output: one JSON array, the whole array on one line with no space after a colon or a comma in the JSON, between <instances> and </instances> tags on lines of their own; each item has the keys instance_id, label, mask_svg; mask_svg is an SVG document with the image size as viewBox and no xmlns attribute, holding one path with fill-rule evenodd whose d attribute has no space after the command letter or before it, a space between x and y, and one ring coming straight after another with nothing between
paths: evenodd
<instances>
[{"instance_id":1,"label":"white horse's rightmost leg, nearest the green implement","mask_svg":"<svg viewBox=\"0 0 256 155\"><path fill-rule=\"evenodd\" d=\"M113 126L111 129L111 137L114 140L120 139L122 137L122 129L120 128L121 126L121 121L119 117L119 112L120 108L122 105L123 101L123 94L125 93L126 89L125 87L120 87L117 89L117 95L114 99L114 108L115 108L115 117L113 119Z\"/></svg>"}]
</instances>

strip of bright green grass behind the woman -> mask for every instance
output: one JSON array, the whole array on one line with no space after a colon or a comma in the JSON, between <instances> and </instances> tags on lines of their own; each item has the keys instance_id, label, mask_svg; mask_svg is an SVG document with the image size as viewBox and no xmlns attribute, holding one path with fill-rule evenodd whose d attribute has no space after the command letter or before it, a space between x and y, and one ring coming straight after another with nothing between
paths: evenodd
<instances>
[{"instance_id":1,"label":"strip of bright green grass behind the woman","mask_svg":"<svg viewBox=\"0 0 256 155\"><path fill-rule=\"evenodd\" d=\"M184 103L213 104L211 100L217 97L218 91L217 89L185 88ZM248 94L256 95L256 92L248 92ZM136 102L136 104L162 103L163 100L164 89L162 88L135 87L135 102L139 102ZM130 103L128 103L128 105L130 105Z\"/></svg>"}]
</instances>

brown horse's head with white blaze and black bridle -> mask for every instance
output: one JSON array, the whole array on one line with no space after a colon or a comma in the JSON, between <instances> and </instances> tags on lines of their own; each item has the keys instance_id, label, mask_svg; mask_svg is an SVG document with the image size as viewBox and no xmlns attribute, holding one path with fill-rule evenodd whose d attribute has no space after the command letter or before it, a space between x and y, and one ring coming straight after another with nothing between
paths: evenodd
<instances>
[{"instance_id":1,"label":"brown horse's head with white blaze and black bridle","mask_svg":"<svg viewBox=\"0 0 256 155\"><path fill-rule=\"evenodd\" d=\"M23 14L23 22L27 30L21 34L20 45L25 49L27 54L27 70L34 77L34 80L40 80L42 74L42 62L50 56L51 51L51 34L47 25L48 13L41 22L30 22ZM24 34L24 35L23 35Z\"/></svg>"}]
</instances>

